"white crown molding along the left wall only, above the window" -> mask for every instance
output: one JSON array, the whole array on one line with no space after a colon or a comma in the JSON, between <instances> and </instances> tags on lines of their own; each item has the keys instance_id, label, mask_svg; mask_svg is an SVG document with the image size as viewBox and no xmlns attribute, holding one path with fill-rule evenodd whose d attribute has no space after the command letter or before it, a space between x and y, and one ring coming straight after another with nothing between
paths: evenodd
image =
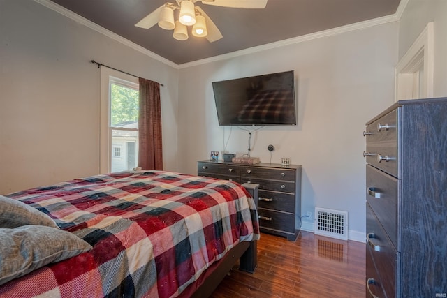
<instances>
[{"instance_id":1,"label":"white crown molding along the left wall only, above the window","mask_svg":"<svg viewBox=\"0 0 447 298\"><path fill-rule=\"evenodd\" d=\"M151 52L144 47L141 47L140 45L137 45L136 43L131 42L130 40L123 38L122 36L119 36L117 33L113 33L112 31L105 29L104 27L99 26L98 24L95 24L94 22L91 22L90 20L87 20L85 17L81 17L80 15L73 13L73 11L68 10L64 8L63 6L60 6L57 3L54 3L50 0L34 0L35 2L46 6L47 8L50 8L57 13L60 13L61 15L64 15L71 20L78 22L86 27L89 27L90 29L97 31L98 33L101 33L105 36L108 36L112 38L113 40L116 40L119 43L122 43L123 45L126 45L128 47L131 47L133 50L137 50L138 52L147 55L148 57L151 57L153 59L156 59L164 64L167 64L168 66L171 66L173 68L178 68L178 64L175 64L173 61L170 61L166 58L163 58L159 56L158 54L155 54L154 52Z\"/></svg>"}]
</instances>

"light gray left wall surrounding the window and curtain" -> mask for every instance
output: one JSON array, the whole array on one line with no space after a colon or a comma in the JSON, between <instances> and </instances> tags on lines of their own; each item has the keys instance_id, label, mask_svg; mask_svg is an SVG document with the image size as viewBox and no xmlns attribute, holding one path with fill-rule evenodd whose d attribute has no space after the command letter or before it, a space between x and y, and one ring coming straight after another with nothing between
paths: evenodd
<instances>
[{"instance_id":1,"label":"light gray left wall surrounding the window and curtain","mask_svg":"<svg viewBox=\"0 0 447 298\"><path fill-rule=\"evenodd\" d=\"M165 84L163 160L177 169L177 69L34 1L0 0L0 194L99 172L91 59Z\"/></svg>"}]
</instances>

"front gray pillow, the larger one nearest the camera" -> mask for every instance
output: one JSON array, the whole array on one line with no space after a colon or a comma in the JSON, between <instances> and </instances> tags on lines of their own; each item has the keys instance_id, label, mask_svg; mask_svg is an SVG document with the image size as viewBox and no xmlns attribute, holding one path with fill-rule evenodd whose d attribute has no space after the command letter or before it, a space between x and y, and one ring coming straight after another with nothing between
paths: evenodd
<instances>
[{"instance_id":1,"label":"front gray pillow, the larger one nearest the camera","mask_svg":"<svg viewBox=\"0 0 447 298\"><path fill-rule=\"evenodd\" d=\"M42 225L0 228L0 285L91 249L71 232Z\"/></svg>"}]
</instances>

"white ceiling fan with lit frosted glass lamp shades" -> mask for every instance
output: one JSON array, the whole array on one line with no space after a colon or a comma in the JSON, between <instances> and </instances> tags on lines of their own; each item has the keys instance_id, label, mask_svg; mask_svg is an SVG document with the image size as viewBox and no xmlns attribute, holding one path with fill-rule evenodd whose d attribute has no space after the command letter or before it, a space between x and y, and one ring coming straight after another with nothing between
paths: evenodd
<instances>
[{"instance_id":1,"label":"white ceiling fan with lit frosted glass lamp shades","mask_svg":"<svg viewBox=\"0 0 447 298\"><path fill-rule=\"evenodd\" d=\"M166 2L140 22L136 27L149 29L155 24L166 30L174 30L173 37L177 40L188 39L187 26L193 26L192 34L197 37L205 37L212 43L223 36L216 24L194 3L202 2L207 5L223 6L230 8L265 8L268 0L174 0ZM178 19L174 20L174 11L179 10Z\"/></svg>"}]
</instances>

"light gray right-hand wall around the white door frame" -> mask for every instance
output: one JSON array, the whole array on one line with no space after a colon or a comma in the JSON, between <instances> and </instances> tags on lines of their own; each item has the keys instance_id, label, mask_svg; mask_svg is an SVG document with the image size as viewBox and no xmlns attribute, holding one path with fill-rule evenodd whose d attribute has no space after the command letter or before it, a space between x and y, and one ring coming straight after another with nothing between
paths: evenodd
<instances>
[{"instance_id":1,"label":"light gray right-hand wall around the white door frame","mask_svg":"<svg viewBox=\"0 0 447 298\"><path fill-rule=\"evenodd\" d=\"M434 22L434 97L447 96L447 1L409 0L400 18L399 58L429 22Z\"/></svg>"}]
</instances>

